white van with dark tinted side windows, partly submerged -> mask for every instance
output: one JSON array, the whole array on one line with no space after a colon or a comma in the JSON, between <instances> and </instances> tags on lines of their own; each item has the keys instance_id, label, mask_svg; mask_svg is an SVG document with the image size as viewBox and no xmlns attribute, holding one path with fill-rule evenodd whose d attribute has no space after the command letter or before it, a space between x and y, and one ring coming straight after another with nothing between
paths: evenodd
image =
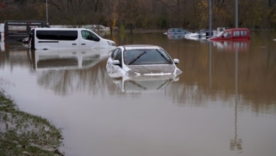
<instances>
[{"instance_id":1,"label":"white van with dark tinted side windows, partly submerged","mask_svg":"<svg viewBox=\"0 0 276 156\"><path fill-rule=\"evenodd\" d=\"M89 50L115 48L115 42L101 38L86 28L33 28L30 31L32 50Z\"/></svg>"}]
</instances>

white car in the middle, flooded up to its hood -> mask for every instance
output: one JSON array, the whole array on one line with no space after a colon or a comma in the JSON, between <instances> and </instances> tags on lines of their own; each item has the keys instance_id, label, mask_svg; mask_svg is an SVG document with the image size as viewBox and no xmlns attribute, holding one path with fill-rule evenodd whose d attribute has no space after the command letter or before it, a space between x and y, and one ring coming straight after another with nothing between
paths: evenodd
<instances>
[{"instance_id":1,"label":"white car in the middle, flooded up to its hood","mask_svg":"<svg viewBox=\"0 0 276 156\"><path fill-rule=\"evenodd\" d=\"M156 45L121 45L111 51L106 69L110 77L171 76L182 73L166 50Z\"/></svg>"}]
</instances>

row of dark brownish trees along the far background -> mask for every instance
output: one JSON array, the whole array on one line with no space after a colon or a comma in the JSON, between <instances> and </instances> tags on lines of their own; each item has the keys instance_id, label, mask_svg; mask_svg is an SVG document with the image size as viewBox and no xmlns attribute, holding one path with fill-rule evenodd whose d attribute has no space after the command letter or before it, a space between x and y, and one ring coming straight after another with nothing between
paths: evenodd
<instances>
[{"instance_id":1,"label":"row of dark brownish trees along the far background","mask_svg":"<svg viewBox=\"0 0 276 156\"><path fill-rule=\"evenodd\" d=\"M235 27L236 0L212 0L212 28ZM40 20L50 25L110 28L209 28L209 0L0 0L0 23ZM238 0L238 27L276 28L276 0Z\"/></svg>"}]
</instances>

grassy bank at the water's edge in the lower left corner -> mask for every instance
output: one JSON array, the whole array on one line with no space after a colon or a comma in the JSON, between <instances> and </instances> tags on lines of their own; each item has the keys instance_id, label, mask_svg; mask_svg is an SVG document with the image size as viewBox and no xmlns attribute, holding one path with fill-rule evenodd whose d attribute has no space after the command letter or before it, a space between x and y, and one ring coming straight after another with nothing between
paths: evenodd
<instances>
[{"instance_id":1,"label":"grassy bank at the water's edge in the lower left corner","mask_svg":"<svg viewBox=\"0 0 276 156\"><path fill-rule=\"evenodd\" d=\"M20 111L0 91L0 155L63 155L61 130L40 116Z\"/></svg>"}]
</instances>

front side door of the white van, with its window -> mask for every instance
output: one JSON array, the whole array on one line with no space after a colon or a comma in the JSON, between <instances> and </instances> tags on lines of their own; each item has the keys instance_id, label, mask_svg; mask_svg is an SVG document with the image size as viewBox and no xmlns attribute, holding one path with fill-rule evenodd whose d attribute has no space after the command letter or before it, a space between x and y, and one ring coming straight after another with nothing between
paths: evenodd
<instances>
[{"instance_id":1,"label":"front side door of the white van, with its window","mask_svg":"<svg viewBox=\"0 0 276 156\"><path fill-rule=\"evenodd\" d=\"M81 30L81 38L79 39L81 50L90 50L100 48L100 38L89 30Z\"/></svg>"}]
</instances>

